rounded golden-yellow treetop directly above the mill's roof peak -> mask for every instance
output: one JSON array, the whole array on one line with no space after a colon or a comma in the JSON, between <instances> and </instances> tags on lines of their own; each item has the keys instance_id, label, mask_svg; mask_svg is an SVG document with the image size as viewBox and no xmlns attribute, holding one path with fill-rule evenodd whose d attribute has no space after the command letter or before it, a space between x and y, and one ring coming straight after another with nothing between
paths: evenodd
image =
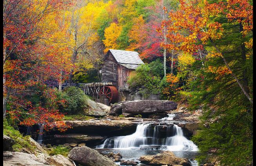
<instances>
[{"instance_id":1,"label":"rounded golden-yellow treetop directly above the mill's roof peak","mask_svg":"<svg viewBox=\"0 0 256 166\"><path fill-rule=\"evenodd\" d=\"M118 26L116 23L111 23L109 27L104 30L105 40L103 43L106 47L104 52L107 52L109 49L117 49L118 44L116 43L116 39L121 34L122 27Z\"/></svg>"}]
</instances>

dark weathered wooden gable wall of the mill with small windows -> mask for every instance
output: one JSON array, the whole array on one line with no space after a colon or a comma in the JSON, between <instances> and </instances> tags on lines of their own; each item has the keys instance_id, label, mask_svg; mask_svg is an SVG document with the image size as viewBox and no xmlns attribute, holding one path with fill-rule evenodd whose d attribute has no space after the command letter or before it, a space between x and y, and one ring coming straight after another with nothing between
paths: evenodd
<instances>
[{"instance_id":1,"label":"dark weathered wooden gable wall of the mill with small windows","mask_svg":"<svg viewBox=\"0 0 256 166\"><path fill-rule=\"evenodd\" d=\"M113 55L109 57L111 52L108 52L102 66L102 81L112 82L113 86L118 89L118 66L119 64L114 59ZM116 70L114 70L114 64L116 65ZM106 65L106 71L104 70L104 65ZM116 80L114 80L114 74L116 74ZM106 78L105 78L106 76Z\"/></svg>"}]
</instances>

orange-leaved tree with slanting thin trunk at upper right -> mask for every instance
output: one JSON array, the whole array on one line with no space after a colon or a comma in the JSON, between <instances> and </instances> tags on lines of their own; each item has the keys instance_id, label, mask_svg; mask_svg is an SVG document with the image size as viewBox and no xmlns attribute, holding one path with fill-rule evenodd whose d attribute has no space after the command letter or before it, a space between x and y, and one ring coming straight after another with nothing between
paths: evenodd
<instances>
[{"instance_id":1,"label":"orange-leaved tree with slanting thin trunk at upper right","mask_svg":"<svg viewBox=\"0 0 256 166\"><path fill-rule=\"evenodd\" d=\"M188 53L200 52L199 50L200 48L202 50L202 45L206 45L208 41L211 44L212 48L215 49L211 50L210 52L208 51L208 54L210 53L212 57L221 57L223 59L223 62L228 69L227 71L236 80L237 84L241 88L241 91L252 103L252 98L249 95L248 89L246 88L246 78L244 78L244 84L242 84L238 77L234 75L234 72L232 72L230 64L223 56L223 52L220 50L220 48L216 46L214 42L222 38L222 23L219 23L218 21L210 22L210 15L217 17L218 14L223 14L223 16L225 16L225 18L227 18L229 21L237 20L240 25L240 32L246 34L252 30L252 6L249 5L246 1L243 1L241 4L236 1L228 3L221 2L219 4L208 4L207 2L205 2L204 9L201 9L201 7L199 5L196 5L196 3L196 1L192 1L189 5L186 4L184 1L180 1L181 9L175 12L171 11L169 13L169 17L171 18L169 20L169 24L171 25L169 27L169 32L179 32L177 34L170 33L168 38L170 39L172 44L165 45L166 48L169 48L171 50L182 50ZM248 10L248 12L242 12L241 15L235 15L236 12L240 11L240 9L234 7L234 4L239 4L240 6L243 6L243 9ZM248 22L248 24L246 24L245 22ZM243 29L246 29L245 32L243 32ZM187 33L184 34L184 31ZM248 43L251 41L248 41ZM175 45L176 43L178 44L178 46ZM246 58L244 58L245 46L242 47L244 50L242 56L243 59L245 59L244 61L246 61Z\"/></svg>"}]
</instances>

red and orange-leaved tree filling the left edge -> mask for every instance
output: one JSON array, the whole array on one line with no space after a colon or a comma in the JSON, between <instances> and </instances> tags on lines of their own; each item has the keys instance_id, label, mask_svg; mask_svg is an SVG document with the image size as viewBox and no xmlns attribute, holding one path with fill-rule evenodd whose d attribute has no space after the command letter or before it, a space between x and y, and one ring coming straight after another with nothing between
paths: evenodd
<instances>
[{"instance_id":1,"label":"red and orange-leaved tree filling the left edge","mask_svg":"<svg viewBox=\"0 0 256 166\"><path fill-rule=\"evenodd\" d=\"M70 4L62 0L4 1L4 118L7 115L22 120L20 124L45 123L46 128L67 129L58 110L32 105L25 96L50 96L41 86L47 75L54 72L47 68L52 47L44 42L51 39L48 32L52 29L46 20ZM51 72L45 75L46 70Z\"/></svg>"}]
</instances>

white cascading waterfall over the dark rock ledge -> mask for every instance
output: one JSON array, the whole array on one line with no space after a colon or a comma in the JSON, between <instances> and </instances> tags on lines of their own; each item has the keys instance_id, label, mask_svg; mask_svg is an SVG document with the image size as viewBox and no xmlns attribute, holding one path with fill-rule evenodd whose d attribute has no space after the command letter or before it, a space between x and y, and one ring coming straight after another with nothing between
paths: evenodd
<instances>
[{"instance_id":1,"label":"white cascading waterfall over the dark rock ledge","mask_svg":"<svg viewBox=\"0 0 256 166\"><path fill-rule=\"evenodd\" d=\"M163 128L165 127L165 128ZM166 136L160 134L160 129L166 130ZM152 132L153 131L153 132ZM186 137L183 136L183 131L178 125L171 124L166 127L163 125L155 125L153 123L138 124L136 132L128 136L118 136L107 138L102 145L96 148L118 148L132 149L140 148L140 146L160 145L165 146L167 150L172 151L197 151L197 146Z\"/></svg>"}]
</instances>

